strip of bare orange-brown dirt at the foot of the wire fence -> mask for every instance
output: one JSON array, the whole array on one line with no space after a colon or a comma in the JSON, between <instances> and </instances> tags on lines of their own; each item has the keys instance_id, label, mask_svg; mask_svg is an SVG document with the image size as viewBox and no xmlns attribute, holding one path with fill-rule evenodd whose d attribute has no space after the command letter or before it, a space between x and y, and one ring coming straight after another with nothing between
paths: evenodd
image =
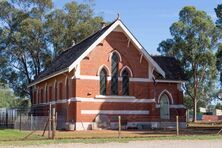
<instances>
[{"instance_id":1,"label":"strip of bare orange-brown dirt at the foot of the wire fence","mask_svg":"<svg viewBox=\"0 0 222 148\"><path fill-rule=\"evenodd\" d=\"M180 135L215 135L220 129L182 129ZM42 132L36 134L41 135ZM146 131L121 131L121 137L158 137L158 136L175 136L176 130L146 130ZM45 134L47 136L47 133ZM75 138L112 138L118 137L116 130L89 130L89 131L57 131L58 139L75 139ZM222 147L221 147L222 148Z\"/></svg>"}]
</instances>

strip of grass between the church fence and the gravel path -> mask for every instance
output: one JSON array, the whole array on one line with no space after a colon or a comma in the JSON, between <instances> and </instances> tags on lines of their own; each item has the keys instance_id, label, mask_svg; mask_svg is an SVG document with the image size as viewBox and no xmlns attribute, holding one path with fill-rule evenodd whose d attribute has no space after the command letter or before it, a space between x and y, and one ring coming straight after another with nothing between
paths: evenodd
<instances>
[{"instance_id":1,"label":"strip of grass between the church fence and the gravel path","mask_svg":"<svg viewBox=\"0 0 222 148\"><path fill-rule=\"evenodd\" d=\"M18 130L0 130L0 147L3 146L26 146L26 145L42 145L42 144L58 144L58 143L107 143L129 141L144 141L144 140L222 140L222 135L216 134L182 134L175 135L175 131L161 132L139 132L125 131L122 133L124 138L117 138L117 131L81 131L81 132L57 132L56 140L48 140L47 137L42 137L42 132L35 132L27 139L24 139L30 131ZM68 135L67 137L66 134ZM70 135L73 135L70 137ZM100 136L98 136L100 135ZM107 135L107 136L105 136ZM47 133L46 133L47 136ZM96 137L97 136L97 137ZM127 138L126 138L127 137Z\"/></svg>"}]
</instances>

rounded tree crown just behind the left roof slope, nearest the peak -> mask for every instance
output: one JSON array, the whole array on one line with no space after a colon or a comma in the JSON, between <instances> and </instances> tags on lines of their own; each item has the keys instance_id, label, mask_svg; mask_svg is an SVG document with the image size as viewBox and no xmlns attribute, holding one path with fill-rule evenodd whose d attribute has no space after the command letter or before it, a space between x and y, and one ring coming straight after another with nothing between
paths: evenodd
<instances>
[{"instance_id":1,"label":"rounded tree crown just behind the left roof slope, nearest the peak","mask_svg":"<svg viewBox=\"0 0 222 148\"><path fill-rule=\"evenodd\" d=\"M103 19L93 15L90 5L75 1L46 15L47 39L53 46L55 56L100 29Z\"/></svg>"}]
</instances>

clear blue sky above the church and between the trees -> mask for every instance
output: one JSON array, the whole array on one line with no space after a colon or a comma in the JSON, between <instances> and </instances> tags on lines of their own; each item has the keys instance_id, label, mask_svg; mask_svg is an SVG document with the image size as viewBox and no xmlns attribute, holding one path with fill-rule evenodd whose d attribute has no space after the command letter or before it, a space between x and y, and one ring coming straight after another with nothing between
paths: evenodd
<instances>
[{"instance_id":1,"label":"clear blue sky above the church and between the trees","mask_svg":"<svg viewBox=\"0 0 222 148\"><path fill-rule=\"evenodd\" d=\"M54 0L58 8L71 0ZM87 0L77 0L86 2ZM90 1L90 0L88 0ZM91 0L92 1L92 0ZM103 16L105 21L113 21L117 13L120 19L136 36L150 54L158 54L158 44L170 38L169 27L178 20L179 11L184 6L195 6L204 10L216 20L214 8L221 0L93 0L95 15Z\"/></svg>"}]
</instances>

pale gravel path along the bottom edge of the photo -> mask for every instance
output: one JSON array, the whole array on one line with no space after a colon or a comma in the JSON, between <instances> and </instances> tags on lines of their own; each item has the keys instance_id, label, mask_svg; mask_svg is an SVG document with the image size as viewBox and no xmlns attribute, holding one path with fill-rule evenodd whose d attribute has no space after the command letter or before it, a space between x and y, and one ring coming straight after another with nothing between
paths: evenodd
<instances>
[{"instance_id":1,"label":"pale gravel path along the bottom edge of the photo","mask_svg":"<svg viewBox=\"0 0 222 148\"><path fill-rule=\"evenodd\" d=\"M153 140L131 141L128 143L67 143L41 146L27 146L26 148L222 148L222 140ZM21 148L21 147L20 147Z\"/></svg>"}]
</instances>

